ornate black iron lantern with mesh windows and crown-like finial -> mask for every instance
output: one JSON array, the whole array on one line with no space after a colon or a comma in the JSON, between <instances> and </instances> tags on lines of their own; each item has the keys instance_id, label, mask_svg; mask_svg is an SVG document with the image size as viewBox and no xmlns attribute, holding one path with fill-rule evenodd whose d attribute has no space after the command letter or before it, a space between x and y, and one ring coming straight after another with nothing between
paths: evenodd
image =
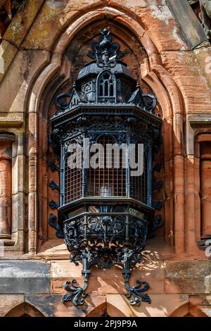
<instances>
[{"instance_id":1,"label":"ornate black iron lantern with mesh windows and crown-like finial","mask_svg":"<svg viewBox=\"0 0 211 331\"><path fill-rule=\"evenodd\" d=\"M131 287L131 269L141 261L148 233L154 228L152 205L153 151L160 146L162 120L155 115L155 97L143 94L120 58L120 45L108 29L92 45L93 61L79 72L70 91L56 98L51 118L52 140L60 157L58 224L63 227L70 261L82 260L84 286L65 283L64 301L84 304L91 266L122 267L130 304L151 302L147 282ZM118 167L102 156L103 166L91 167L91 147L143 146L143 171L132 176L129 153L120 149ZM73 156L75 167L69 164ZM70 148L71 147L71 148ZM113 152L112 152L113 153ZM134 154L137 158L138 149ZM101 152L99 153L101 158ZM109 154L111 155L111 154ZM112 154L113 155L113 154ZM77 156L77 157L76 157ZM69 160L69 161L68 161ZM77 164L79 163L79 164ZM89 163L87 165L87 163Z\"/></svg>"}]
</instances>

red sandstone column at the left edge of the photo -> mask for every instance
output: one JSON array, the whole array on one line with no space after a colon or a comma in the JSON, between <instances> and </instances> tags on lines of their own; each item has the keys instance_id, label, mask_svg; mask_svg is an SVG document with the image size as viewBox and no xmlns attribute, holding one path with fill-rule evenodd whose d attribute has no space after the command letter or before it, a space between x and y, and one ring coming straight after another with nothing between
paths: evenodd
<instances>
[{"instance_id":1,"label":"red sandstone column at the left edge of the photo","mask_svg":"<svg viewBox=\"0 0 211 331\"><path fill-rule=\"evenodd\" d=\"M0 133L0 239L11 239L11 158L15 137Z\"/></svg>"}]
</instances>

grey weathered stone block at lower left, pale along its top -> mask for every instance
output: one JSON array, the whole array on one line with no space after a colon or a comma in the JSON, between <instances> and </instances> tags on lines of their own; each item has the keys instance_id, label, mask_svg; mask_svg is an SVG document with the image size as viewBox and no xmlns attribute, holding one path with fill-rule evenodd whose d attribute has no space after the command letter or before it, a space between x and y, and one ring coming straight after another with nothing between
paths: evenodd
<instances>
[{"instance_id":1,"label":"grey weathered stone block at lower left, pale along its top","mask_svg":"<svg viewBox=\"0 0 211 331\"><path fill-rule=\"evenodd\" d=\"M49 293L50 268L37 261L0 261L0 293Z\"/></svg>"}]
</instances>

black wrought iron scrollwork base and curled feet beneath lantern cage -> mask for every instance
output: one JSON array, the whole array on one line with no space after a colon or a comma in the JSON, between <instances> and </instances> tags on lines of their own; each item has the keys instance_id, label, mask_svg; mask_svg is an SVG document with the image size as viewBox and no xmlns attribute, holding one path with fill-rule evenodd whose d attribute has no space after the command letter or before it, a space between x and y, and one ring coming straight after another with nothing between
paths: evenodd
<instances>
[{"instance_id":1,"label":"black wrought iron scrollwork base and curled feet beneath lantern cage","mask_svg":"<svg viewBox=\"0 0 211 331\"><path fill-rule=\"evenodd\" d=\"M147 282L137 280L137 285L130 287L131 268L141 261L141 251L146 245L148 225L144 220L134 216L117 216L114 213L103 216L82 216L65 221L65 244L70 251L70 261L78 265L83 261L82 275L84 285L76 285L76 281L65 282L64 288L70 292L65 294L63 302L84 304L91 266L111 268L122 267L127 298L132 296L129 304L139 305L141 301L150 303L151 299L143 292L149 289Z\"/></svg>"}]
</instances>

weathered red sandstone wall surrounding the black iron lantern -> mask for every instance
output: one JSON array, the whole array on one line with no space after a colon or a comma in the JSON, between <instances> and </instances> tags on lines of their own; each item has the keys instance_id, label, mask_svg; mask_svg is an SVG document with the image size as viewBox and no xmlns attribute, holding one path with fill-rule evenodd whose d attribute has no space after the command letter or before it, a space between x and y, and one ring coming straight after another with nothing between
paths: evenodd
<instances>
[{"instance_id":1,"label":"weathered red sandstone wall surrounding the black iron lantern","mask_svg":"<svg viewBox=\"0 0 211 331\"><path fill-rule=\"evenodd\" d=\"M129 307L120 270L109 270L106 277L95 270L84 313L72 304L58 304L62 282L72 277L82 282L82 278L81 268L70 265L63 241L48 225L49 201L58 196L49 189L51 180L58 182L48 166L49 160L55 160L48 143L49 116L55 111L53 97L72 84L89 60L87 50L98 30L107 26L127 50L124 61L143 90L158 99L164 144L158 156L163 170L157 180L163 180L164 187L154 193L154 199L164 201L165 225L148 242L147 266L143 263L135 272L151 282L153 305ZM184 316L188 311L203 315L210 309L210 261L197 240L210 206L205 205L201 216L197 137L211 130L210 44L191 51L163 0L30 0L6 30L0 54L0 134L15 135L11 177L7 171L8 178L3 180L8 185L12 180L11 241L4 258L36 258L51 265L51 299L33 294L27 303L44 312L49 302L55 316L99 315L105 309L111 316L120 312L125 316ZM0 159L0 171L1 167ZM203 182L207 183L209 173L203 173ZM207 196L206 186L203 196ZM30 308L23 305L24 300L23 294L0 294L0 304L7 302L2 314L19 304L27 311ZM100 308L94 311L94 307Z\"/></svg>"}]
</instances>

